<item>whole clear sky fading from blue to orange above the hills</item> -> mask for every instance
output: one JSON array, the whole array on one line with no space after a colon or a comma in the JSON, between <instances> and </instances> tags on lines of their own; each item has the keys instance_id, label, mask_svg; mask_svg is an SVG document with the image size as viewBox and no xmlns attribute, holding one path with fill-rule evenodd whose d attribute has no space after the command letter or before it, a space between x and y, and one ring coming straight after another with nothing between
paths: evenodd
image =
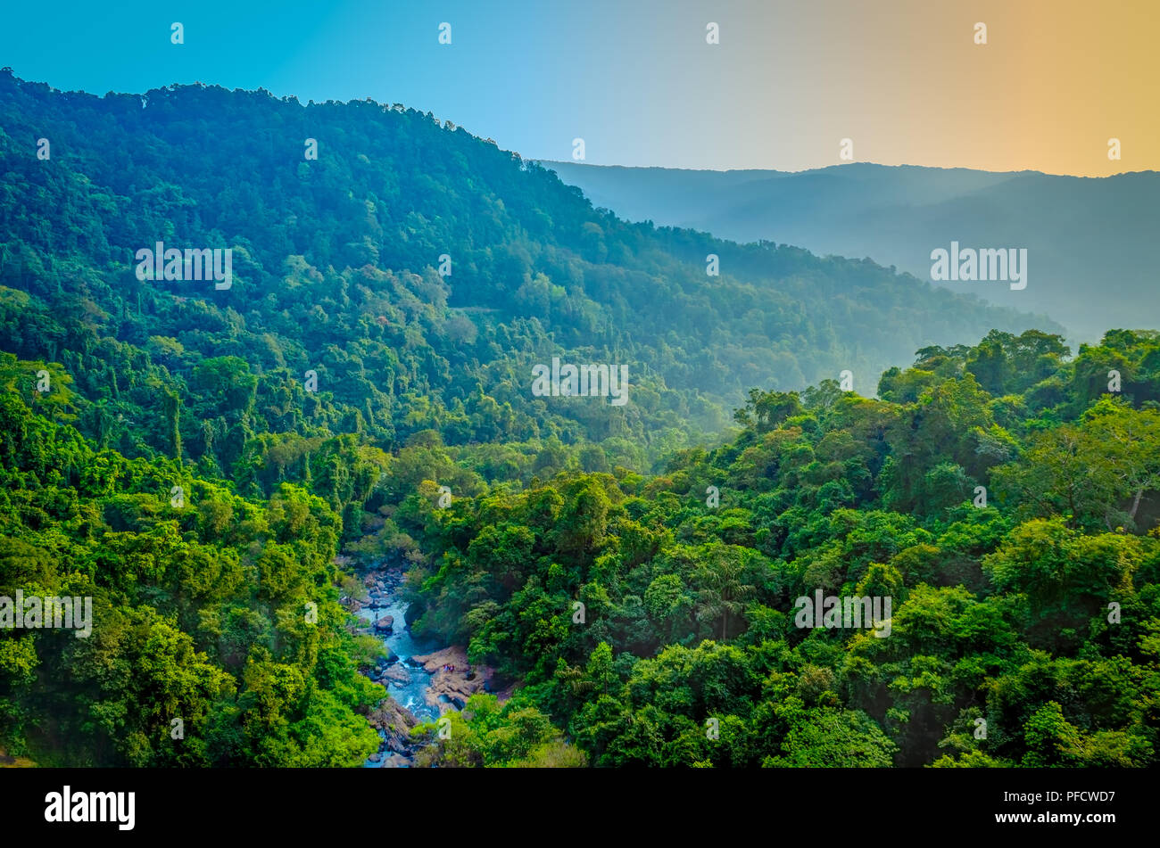
<instances>
[{"instance_id":1,"label":"whole clear sky fading from blue to orange above the hills","mask_svg":"<svg viewBox=\"0 0 1160 848\"><path fill-rule=\"evenodd\" d=\"M7 6L0 66L26 80L372 97L528 159L571 159L582 138L596 165L803 170L841 163L850 139L854 161L883 165L1160 169L1160 0Z\"/></svg>"}]
</instances>

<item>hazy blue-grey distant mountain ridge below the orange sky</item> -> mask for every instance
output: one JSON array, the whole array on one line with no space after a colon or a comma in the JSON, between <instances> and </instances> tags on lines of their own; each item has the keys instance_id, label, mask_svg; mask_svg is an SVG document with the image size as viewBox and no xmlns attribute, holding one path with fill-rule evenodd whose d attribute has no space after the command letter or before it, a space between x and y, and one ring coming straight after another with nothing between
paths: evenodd
<instances>
[{"instance_id":1,"label":"hazy blue-grey distant mountain ridge below the orange sky","mask_svg":"<svg viewBox=\"0 0 1160 848\"><path fill-rule=\"evenodd\" d=\"M951 241L1027 248L1029 285L952 283L1002 306L1046 313L1073 338L1160 326L1153 244L1160 174L1070 177L850 163L798 173L702 171L544 162L596 206L629 220L867 256L930 279Z\"/></svg>"}]
</instances>

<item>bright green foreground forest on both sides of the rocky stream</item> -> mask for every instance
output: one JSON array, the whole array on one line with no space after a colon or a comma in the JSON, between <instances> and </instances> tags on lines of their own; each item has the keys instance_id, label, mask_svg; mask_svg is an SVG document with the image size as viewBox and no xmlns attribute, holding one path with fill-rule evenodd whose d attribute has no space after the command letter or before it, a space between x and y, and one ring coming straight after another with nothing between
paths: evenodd
<instances>
[{"instance_id":1,"label":"bright green foreground forest on both sides of the rocky stream","mask_svg":"<svg viewBox=\"0 0 1160 848\"><path fill-rule=\"evenodd\" d=\"M0 744L94 765L374 751L339 513L100 448L23 388L35 365L0 363L0 594L92 594L100 627L0 637ZM522 683L469 700L449 739L418 731L421 762L1154 765L1160 332L1074 359L992 332L878 389L755 390L735 439L658 475L488 487L434 437L369 458L384 519L350 550L409 564L413 629ZM450 469L479 494L438 509ZM817 591L892 598L889 637L803 629ZM193 744L166 743L173 718Z\"/></svg>"}]
</instances>

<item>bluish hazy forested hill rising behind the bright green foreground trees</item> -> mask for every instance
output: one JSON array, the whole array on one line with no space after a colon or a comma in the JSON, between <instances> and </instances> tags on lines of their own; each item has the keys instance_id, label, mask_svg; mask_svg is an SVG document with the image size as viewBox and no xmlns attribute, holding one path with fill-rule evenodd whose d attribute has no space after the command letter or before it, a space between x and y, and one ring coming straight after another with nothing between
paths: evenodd
<instances>
[{"instance_id":1,"label":"bluish hazy forested hill rising behind the bright green foreground trees","mask_svg":"<svg viewBox=\"0 0 1160 848\"><path fill-rule=\"evenodd\" d=\"M96 97L6 73L0 126L0 285L30 295L3 300L5 349L59 358L80 402L113 405L107 436L129 453L180 443L229 471L263 431L391 447L434 429L459 445L599 439L639 465L720 430L755 385L848 368L871 390L927 344L1052 329L869 262L625 224L401 107L200 86ZM138 280L136 251L159 241L232 249L232 286ZM553 356L626 364L632 402L532 397ZM223 380L244 388L223 400ZM187 415L124 441L118 416L148 417L167 392Z\"/></svg>"}]
</instances>

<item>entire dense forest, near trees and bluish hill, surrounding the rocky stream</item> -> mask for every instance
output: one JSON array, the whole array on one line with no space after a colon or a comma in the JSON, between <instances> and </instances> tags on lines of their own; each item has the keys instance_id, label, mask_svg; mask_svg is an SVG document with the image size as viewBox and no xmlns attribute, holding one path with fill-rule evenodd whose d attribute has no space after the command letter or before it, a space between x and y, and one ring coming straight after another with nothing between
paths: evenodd
<instances>
[{"instance_id":1,"label":"entire dense forest, near trees and bluish hill, surrounding the rocky stream","mask_svg":"<svg viewBox=\"0 0 1160 848\"><path fill-rule=\"evenodd\" d=\"M0 631L9 755L360 765L345 551L520 681L419 765L1154 761L1160 334L1072 357L370 101L5 70L0 174L0 597L94 599L88 638ZM159 241L232 285L139 279ZM553 357L629 402L535 396ZM797 627L815 591L891 598L889 638Z\"/></svg>"}]
</instances>

